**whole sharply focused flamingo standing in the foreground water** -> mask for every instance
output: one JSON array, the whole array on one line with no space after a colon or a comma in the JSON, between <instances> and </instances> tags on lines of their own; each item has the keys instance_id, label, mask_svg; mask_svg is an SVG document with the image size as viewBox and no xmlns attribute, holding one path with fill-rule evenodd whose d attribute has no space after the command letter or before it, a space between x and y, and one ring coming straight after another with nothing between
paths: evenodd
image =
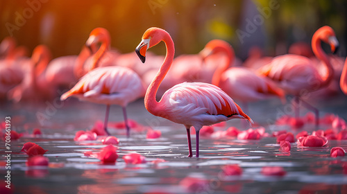
<instances>
[{"instance_id":1,"label":"whole sharply focused flamingo standing in the foreground water","mask_svg":"<svg viewBox=\"0 0 347 194\"><path fill-rule=\"evenodd\" d=\"M146 51L163 41L167 55L155 78L144 96L146 109L155 116L185 125L189 147L188 157L192 157L190 127L196 130L196 157L198 154L199 130L203 125L212 125L232 118L252 119L219 87L202 82L183 82L167 90L160 101L155 100L160 83L169 71L174 60L174 42L167 31L161 28L149 28L142 36L136 53L142 62L146 60Z\"/></svg>"}]
</instances>

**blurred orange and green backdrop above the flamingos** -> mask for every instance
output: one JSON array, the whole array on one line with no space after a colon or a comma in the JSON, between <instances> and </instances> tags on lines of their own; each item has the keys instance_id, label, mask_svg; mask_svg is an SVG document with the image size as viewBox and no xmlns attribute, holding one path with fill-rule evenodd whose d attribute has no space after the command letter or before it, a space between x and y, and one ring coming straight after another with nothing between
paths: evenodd
<instances>
[{"instance_id":1,"label":"blurred orange and green backdrop above the flamingos","mask_svg":"<svg viewBox=\"0 0 347 194\"><path fill-rule=\"evenodd\" d=\"M287 53L290 44L310 43L317 28L329 25L339 55L346 55L346 0L2 0L0 15L0 39L12 35L30 52L46 44L55 58L77 55L96 27L110 30L112 47L132 52L152 26L171 34L176 55L198 53L219 38L244 60L253 45L266 55ZM151 51L164 55L163 48Z\"/></svg>"}]
</instances>

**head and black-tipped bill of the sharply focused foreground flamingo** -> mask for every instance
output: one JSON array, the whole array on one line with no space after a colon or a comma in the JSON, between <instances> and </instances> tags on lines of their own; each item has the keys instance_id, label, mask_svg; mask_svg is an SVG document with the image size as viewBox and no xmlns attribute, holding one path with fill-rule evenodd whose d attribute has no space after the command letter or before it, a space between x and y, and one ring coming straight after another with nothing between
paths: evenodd
<instances>
[{"instance_id":1,"label":"head and black-tipped bill of the sharply focused foreground flamingo","mask_svg":"<svg viewBox=\"0 0 347 194\"><path fill-rule=\"evenodd\" d=\"M166 39L167 37L165 36L167 35L169 35L169 33L161 28L153 27L146 30L146 32L144 32L144 35L142 36L142 41L135 49L135 52L137 53L137 56L139 56L139 59L142 62L145 62L147 49L157 45L163 39Z\"/></svg>"}]
</instances>

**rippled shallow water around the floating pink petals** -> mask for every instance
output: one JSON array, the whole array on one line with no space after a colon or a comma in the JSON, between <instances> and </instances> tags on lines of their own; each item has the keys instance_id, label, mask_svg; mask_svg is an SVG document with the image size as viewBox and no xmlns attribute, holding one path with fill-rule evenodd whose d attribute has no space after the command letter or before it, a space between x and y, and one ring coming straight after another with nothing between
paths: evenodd
<instances>
[{"instance_id":1,"label":"rippled shallow water around the floating pink petals","mask_svg":"<svg viewBox=\"0 0 347 194\"><path fill-rule=\"evenodd\" d=\"M346 119L346 99L346 96L338 96L316 104L323 112L339 114ZM340 146L347 150L347 141L329 141L323 148L299 148L292 143L288 154L278 150L279 145L273 137L257 141L201 138L201 157L188 158L184 127L152 116L144 109L143 101L138 100L129 105L128 117L161 130L162 136L146 139L145 132L133 130L127 139L125 130L110 127L111 134L120 139L117 145L119 158L115 165L104 165L99 159L83 155L85 151L101 150L105 146L101 141L73 140L76 131L90 130L96 120L103 120L104 106L72 99L59 107L51 107L48 103L41 107L8 104L3 107L1 119L11 116L12 130L24 133L21 139L10 143L11 186L15 193L347 193L347 175L342 171L347 157L330 157L332 147ZM280 110L284 109L279 101L253 103L248 109L253 120L266 127L266 132L289 130L287 126L267 125L268 121L275 121ZM45 115L41 122L37 120L40 113ZM112 106L110 121L121 120L121 109ZM229 121L226 126L215 130L226 130L231 125L242 128L244 123ZM42 136L30 135L35 127L42 130ZM312 126L304 128L311 129ZM19 151L28 141L49 150L44 155L49 158L49 167L26 166L27 156ZM194 135L192 146L195 155ZM2 145L0 148L3 156L5 149ZM121 158L131 152L146 157L147 163L126 164ZM166 162L151 163L155 159ZM224 176L222 168L227 164L239 164L243 174ZM287 175L266 177L260 173L263 166L282 166ZM0 179L3 179L5 166L0 166L0 172ZM189 191L180 184L185 177L200 177L206 182L195 191Z\"/></svg>"}]
</instances>

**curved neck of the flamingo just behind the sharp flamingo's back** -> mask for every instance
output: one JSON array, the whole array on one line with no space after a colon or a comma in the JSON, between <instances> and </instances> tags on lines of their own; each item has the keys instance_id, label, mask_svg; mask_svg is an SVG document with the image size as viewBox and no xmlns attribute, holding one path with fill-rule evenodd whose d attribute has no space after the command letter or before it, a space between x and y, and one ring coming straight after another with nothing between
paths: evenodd
<instances>
[{"instance_id":1,"label":"curved neck of the flamingo just behind the sharp flamingo's back","mask_svg":"<svg viewBox=\"0 0 347 194\"><path fill-rule=\"evenodd\" d=\"M221 52L226 54L226 62L217 67L212 76L212 85L219 86L221 82L221 75L229 68L229 64L235 58L235 53L231 46L219 45L214 49L219 49Z\"/></svg>"}]
</instances>

